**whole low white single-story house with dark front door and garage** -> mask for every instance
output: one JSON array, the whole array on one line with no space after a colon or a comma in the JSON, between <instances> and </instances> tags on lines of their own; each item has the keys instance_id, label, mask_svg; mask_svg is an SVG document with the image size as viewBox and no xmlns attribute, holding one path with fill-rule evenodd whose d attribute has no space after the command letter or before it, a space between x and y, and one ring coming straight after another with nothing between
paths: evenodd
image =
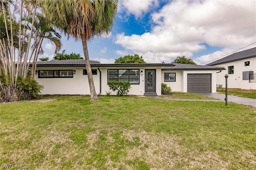
<instances>
[{"instance_id":1,"label":"whole low white single-story house with dark front door and garage","mask_svg":"<svg viewBox=\"0 0 256 170\"><path fill-rule=\"evenodd\" d=\"M111 92L108 81L129 81L129 95L161 95L161 83L172 91L216 92L216 72L224 67L191 64L103 64L90 61L97 94ZM35 79L42 94L89 95L84 60L38 61ZM116 92L112 92L113 95Z\"/></svg>"}]
</instances>

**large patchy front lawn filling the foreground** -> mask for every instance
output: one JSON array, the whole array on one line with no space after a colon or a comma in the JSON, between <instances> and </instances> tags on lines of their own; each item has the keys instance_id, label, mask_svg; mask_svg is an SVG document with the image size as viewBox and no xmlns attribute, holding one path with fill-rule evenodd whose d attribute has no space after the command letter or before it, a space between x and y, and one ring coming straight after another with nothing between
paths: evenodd
<instances>
[{"instance_id":1,"label":"large patchy front lawn filling the foreground","mask_svg":"<svg viewBox=\"0 0 256 170\"><path fill-rule=\"evenodd\" d=\"M142 97L1 104L0 164L28 169L253 169L256 108Z\"/></svg>"}]
</instances>

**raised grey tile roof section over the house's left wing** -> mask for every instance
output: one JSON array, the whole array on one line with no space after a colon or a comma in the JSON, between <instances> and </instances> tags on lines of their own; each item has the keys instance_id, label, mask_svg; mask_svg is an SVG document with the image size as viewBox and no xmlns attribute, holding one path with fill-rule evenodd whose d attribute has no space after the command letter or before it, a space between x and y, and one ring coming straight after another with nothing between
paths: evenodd
<instances>
[{"instance_id":1,"label":"raised grey tile roof section over the house's left wing","mask_svg":"<svg viewBox=\"0 0 256 170\"><path fill-rule=\"evenodd\" d=\"M91 65L100 64L99 61L90 60ZM84 59L76 59L76 60L53 60L53 61L38 61L37 66L78 66L78 65L85 65Z\"/></svg>"}]
</instances>

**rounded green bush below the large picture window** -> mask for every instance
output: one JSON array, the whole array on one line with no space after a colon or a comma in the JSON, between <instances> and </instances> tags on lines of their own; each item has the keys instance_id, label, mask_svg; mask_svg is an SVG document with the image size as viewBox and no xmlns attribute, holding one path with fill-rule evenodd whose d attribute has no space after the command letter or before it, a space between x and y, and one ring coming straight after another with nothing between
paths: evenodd
<instances>
[{"instance_id":1,"label":"rounded green bush below the large picture window","mask_svg":"<svg viewBox=\"0 0 256 170\"><path fill-rule=\"evenodd\" d=\"M124 96L124 94L128 94L129 89L131 88L131 83L121 81L109 81L108 86L110 87L110 90L117 90L117 96Z\"/></svg>"}]
</instances>

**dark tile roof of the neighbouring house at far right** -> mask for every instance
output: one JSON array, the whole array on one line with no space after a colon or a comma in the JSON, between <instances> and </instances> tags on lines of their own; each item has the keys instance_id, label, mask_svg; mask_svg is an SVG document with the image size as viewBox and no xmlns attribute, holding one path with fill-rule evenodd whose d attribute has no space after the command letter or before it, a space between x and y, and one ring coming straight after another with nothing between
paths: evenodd
<instances>
[{"instance_id":1,"label":"dark tile roof of the neighbouring house at far right","mask_svg":"<svg viewBox=\"0 0 256 170\"><path fill-rule=\"evenodd\" d=\"M222 59L219 59L217 61L214 61L212 63L206 64L208 66L214 66L217 64L222 64L222 63L229 63L231 61L238 61L238 60L242 60L242 59L248 59L251 57L256 57L256 47L252 48L252 49L248 49L248 50L244 50L238 53L234 53L232 55L229 55L227 57L224 57Z\"/></svg>"}]
</instances>

